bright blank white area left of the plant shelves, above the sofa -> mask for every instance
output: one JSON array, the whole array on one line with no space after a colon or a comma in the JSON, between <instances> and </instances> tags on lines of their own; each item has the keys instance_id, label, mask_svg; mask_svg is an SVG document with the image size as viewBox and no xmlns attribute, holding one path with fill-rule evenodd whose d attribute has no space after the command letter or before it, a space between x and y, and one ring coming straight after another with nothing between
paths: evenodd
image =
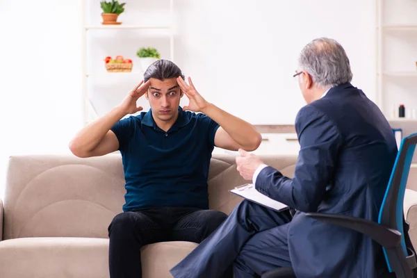
<instances>
[{"instance_id":1,"label":"bright blank white area left of the plant shelves, above the sofa","mask_svg":"<svg viewBox=\"0 0 417 278\"><path fill-rule=\"evenodd\" d=\"M67 153L82 126L81 1L0 0L0 198L8 157Z\"/></svg>"}]
</instances>

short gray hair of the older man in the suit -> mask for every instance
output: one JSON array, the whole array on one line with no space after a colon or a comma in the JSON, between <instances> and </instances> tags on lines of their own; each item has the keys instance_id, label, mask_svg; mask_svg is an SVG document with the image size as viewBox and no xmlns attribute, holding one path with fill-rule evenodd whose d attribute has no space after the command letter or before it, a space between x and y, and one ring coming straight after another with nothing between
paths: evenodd
<instances>
[{"instance_id":1,"label":"short gray hair of the older man in the suit","mask_svg":"<svg viewBox=\"0 0 417 278\"><path fill-rule=\"evenodd\" d=\"M352 81L349 58L336 40L312 40L302 49L298 63L319 88L332 88Z\"/></svg>"}]
</instances>

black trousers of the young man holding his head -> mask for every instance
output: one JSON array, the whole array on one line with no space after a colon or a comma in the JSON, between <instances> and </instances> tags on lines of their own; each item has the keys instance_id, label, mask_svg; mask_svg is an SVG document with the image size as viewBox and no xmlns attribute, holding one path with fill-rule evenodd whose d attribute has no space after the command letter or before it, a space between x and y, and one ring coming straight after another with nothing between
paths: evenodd
<instances>
[{"instance_id":1,"label":"black trousers of the young man holding his head","mask_svg":"<svg viewBox=\"0 0 417 278\"><path fill-rule=\"evenodd\" d=\"M227 215L199 208L140 208L120 213L108 227L111 278L140 278L140 248L161 241L200 243Z\"/></svg>"}]
</instances>

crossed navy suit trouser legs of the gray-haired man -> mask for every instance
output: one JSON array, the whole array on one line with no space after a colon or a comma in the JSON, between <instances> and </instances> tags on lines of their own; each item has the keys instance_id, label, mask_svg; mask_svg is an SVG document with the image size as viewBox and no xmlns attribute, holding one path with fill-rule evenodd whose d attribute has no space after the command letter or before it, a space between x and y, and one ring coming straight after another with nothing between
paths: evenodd
<instances>
[{"instance_id":1,"label":"crossed navy suit trouser legs of the gray-haired man","mask_svg":"<svg viewBox=\"0 0 417 278\"><path fill-rule=\"evenodd\" d=\"M243 200L170 272L174 278L218 278L233 267L235 278L250 278L291 267L287 243L291 219L289 210L277 212Z\"/></svg>"}]
</instances>

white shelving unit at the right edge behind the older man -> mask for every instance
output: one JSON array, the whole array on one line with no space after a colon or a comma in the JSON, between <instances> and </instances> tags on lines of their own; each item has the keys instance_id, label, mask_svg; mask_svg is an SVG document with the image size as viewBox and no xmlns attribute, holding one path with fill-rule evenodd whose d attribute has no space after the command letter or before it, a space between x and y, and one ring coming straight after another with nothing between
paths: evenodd
<instances>
[{"instance_id":1,"label":"white shelving unit at the right edge behind the older man","mask_svg":"<svg viewBox=\"0 0 417 278\"><path fill-rule=\"evenodd\" d=\"M417 1L376 0L376 12L376 103L390 122L417 122L393 118L399 104L417 111Z\"/></svg>"}]
</instances>

